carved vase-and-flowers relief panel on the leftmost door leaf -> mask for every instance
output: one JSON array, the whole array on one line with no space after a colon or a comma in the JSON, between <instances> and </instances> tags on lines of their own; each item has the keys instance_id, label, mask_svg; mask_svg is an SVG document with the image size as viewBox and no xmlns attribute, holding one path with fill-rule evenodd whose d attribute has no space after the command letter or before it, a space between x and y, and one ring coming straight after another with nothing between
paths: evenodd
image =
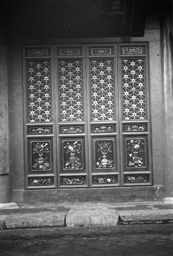
<instances>
[{"instance_id":1,"label":"carved vase-and-flowers relief panel on the leftmost door leaf","mask_svg":"<svg viewBox=\"0 0 173 256\"><path fill-rule=\"evenodd\" d=\"M31 142L32 169L50 170L50 142Z\"/></svg>"}]
</instances>

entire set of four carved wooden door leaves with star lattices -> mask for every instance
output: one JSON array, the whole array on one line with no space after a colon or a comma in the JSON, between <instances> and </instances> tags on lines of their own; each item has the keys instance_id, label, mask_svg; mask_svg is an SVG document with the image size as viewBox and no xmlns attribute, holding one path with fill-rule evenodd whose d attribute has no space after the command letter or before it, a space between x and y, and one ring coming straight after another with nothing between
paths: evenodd
<instances>
[{"instance_id":1,"label":"entire set of four carved wooden door leaves with star lattices","mask_svg":"<svg viewBox=\"0 0 173 256\"><path fill-rule=\"evenodd\" d=\"M147 63L147 44L24 47L27 189L152 184Z\"/></svg>"}]
</instances>

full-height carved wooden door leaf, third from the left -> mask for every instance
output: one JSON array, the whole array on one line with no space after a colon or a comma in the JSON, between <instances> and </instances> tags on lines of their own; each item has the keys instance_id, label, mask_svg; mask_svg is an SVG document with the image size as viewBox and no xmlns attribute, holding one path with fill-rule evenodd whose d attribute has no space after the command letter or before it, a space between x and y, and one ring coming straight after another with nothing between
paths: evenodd
<instances>
[{"instance_id":1,"label":"full-height carved wooden door leaf, third from the left","mask_svg":"<svg viewBox=\"0 0 173 256\"><path fill-rule=\"evenodd\" d=\"M87 46L90 186L119 186L118 82L115 45Z\"/></svg>"}]
</instances>

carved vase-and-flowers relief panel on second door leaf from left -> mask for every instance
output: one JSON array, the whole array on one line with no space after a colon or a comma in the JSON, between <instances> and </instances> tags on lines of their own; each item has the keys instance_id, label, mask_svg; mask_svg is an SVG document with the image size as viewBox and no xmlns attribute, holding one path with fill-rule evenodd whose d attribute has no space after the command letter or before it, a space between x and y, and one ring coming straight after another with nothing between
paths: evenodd
<instances>
[{"instance_id":1,"label":"carved vase-and-flowers relief panel on second door leaf from left","mask_svg":"<svg viewBox=\"0 0 173 256\"><path fill-rule=\"evenodd\" d=\"M81 152L82 141L64 142L63 145L64 145L64 169L70 169L70 170L82 169L82 152Z\"/></svg>"}]
</instances>

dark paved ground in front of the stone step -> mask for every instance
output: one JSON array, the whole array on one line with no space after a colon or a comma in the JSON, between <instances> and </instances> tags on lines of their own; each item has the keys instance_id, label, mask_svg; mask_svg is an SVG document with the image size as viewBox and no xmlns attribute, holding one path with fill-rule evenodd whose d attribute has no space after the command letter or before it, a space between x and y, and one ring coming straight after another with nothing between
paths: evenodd
<instances>
[{"instance_id":1,"label":"dark paved ground in front of the stone step","mask_svg":"<svg viewBox=\"0 0 173 256\"><path fill-rule=\"evenodd\" d=\"M173 256L173 224L0 230L0 256Z\"/></svg>"}]
</instances>

